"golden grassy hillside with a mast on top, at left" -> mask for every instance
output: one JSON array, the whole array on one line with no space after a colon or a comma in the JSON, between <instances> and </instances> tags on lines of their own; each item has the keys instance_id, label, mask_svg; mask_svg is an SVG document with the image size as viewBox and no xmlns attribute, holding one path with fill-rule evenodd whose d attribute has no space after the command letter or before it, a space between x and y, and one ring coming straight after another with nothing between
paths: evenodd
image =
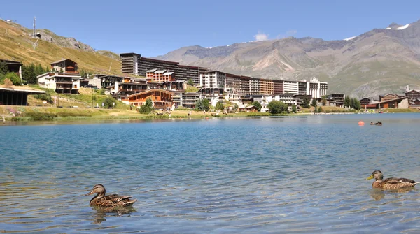
<instances>
[{"instance_id":1,"label":"golden grassy hillside with a mast on top, at left","mask_svg":"<svg viewBox=\"0 0 420 234\"><path fill-rule=\"evenodd\" d=\"M58 36L48 29L36 30L41 34L35 49L36 38L32 30L20 24L0 20L0 59L21 61L23 64L48 66L52 61L68 58L76 61L79 68L93 73L120 73L118 54L109 51L94 51L90 45L75 38ZM110 69L111 66L111 69Z\"/></svg>"}]
</instances>

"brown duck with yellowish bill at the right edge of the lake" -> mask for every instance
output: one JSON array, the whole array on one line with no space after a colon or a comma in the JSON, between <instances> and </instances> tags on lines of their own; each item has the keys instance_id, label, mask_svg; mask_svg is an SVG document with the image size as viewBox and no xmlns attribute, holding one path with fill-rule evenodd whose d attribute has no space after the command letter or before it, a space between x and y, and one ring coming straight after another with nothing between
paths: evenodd
<instances>
[{"instance_id":1,"label":"brown duck with yellowish bill at the right edge of the lake","mask_svg":"<svg viewBox=\"0 0 420 234\"><path fill-rule=\"evenodd\" d=\"M370 177L366 178L366 180L371 180L373 178L375 181L372 184L372 188L378 189L402 189L414 187L416 184L420 183L406 178L390 177L384 180L384 175L380 170L375 170Z\"/></svg>"}]
</instances>

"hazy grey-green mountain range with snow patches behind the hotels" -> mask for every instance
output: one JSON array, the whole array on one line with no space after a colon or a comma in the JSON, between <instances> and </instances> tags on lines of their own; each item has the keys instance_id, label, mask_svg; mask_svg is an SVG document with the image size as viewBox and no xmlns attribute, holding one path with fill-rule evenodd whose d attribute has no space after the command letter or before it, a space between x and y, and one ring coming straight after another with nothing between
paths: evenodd
<instances>
[{"instance_id":1,"label":"hazy grey-green mountain range with snow patches behind the hotels","mask_svg":"<svg viewBox=\"0 0 420 234\"><path fill-rule=\"evenodd\" d=\"M420 21L390 24L337 41L282 38L205 48L182 47L157 59L251 75L302 80L316 76L329 92L377 96L420 88Z\"/></svg>"}]
</instances>

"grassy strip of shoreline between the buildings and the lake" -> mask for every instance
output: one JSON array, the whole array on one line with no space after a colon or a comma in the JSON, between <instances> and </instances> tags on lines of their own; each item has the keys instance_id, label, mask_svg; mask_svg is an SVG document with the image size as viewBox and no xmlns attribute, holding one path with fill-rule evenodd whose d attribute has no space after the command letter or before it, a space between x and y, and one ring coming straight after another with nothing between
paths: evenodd
<instances>
[{"instance_id":1,"label":"grassy strip of shoreline between the buildings and the lake","mask_svg":"<svg viewBox=\"0 0 420 234\"><path fill-rule=\"evenodd\" d=\"M161 111L156 111L160 112ZM191 112L191 115L188 113ZM388 109L386 113L412 113L420 112L414 109ZM96 108L55 108L38 106L11 106L0 105L0 122L7 125L13 123L28 122L73 122L73 121L106 121L106 120L157 120L157 119L213 119L223 117L293 117L309 115L354 115L354 114L378 114L378 112L356 112L349 110L336 110L335 112L314 113L306 110L304 112L272 115L269 112L231 112L228 114L216 112L202 112L195 110L174 110L171 117L168 114L140 114L137 110L129 109L96 109Z\"/></svg>"}]
</instances>

